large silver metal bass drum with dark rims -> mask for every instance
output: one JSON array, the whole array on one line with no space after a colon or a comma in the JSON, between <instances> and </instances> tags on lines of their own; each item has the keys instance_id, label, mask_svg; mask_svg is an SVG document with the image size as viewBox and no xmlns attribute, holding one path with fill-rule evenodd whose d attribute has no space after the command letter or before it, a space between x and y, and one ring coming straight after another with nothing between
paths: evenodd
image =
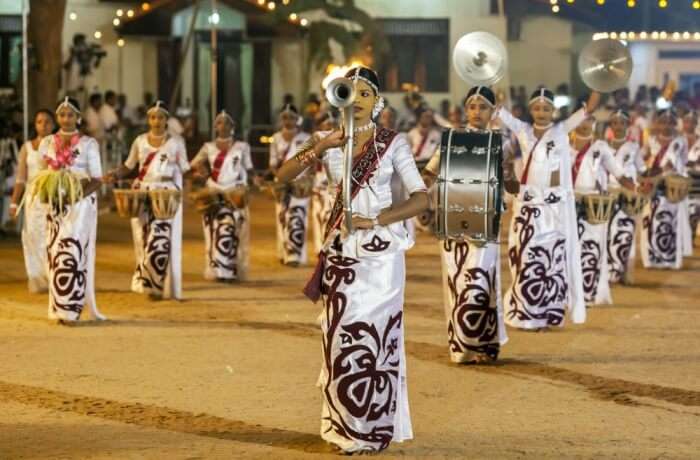
<instances>
[{"instance_id":1,"label":"large silver metal bass drum with dark rims","mask_svg":"<svg viewBox=\"0 0 700 460\"><path fill-rule=\"evenodd\" d=\"M443 131L435 224L438 238L481 245L498 241L502 159L500 131Z\"/></svg>"}]
</instances>

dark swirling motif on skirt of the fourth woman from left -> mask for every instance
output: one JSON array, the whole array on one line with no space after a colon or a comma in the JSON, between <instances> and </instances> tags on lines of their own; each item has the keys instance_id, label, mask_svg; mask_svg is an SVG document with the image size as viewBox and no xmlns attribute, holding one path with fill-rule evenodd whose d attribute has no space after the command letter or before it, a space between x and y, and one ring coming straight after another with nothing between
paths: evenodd
<instances>
[{"instance_id":1,"label":"dark swirling motif on skirt of the fourth woman from left","mask_svg":"<svg viewBox=\"0 0 700 460\"><path fill-rule=\"evenodd\" d=\"M209 265L215 269L228 270L234 277L238 271L238 228L243 219L237 219L236 214L231 208L221 206L204 215L204 226L211 241Z\"/></svg>"}]
</instances>

